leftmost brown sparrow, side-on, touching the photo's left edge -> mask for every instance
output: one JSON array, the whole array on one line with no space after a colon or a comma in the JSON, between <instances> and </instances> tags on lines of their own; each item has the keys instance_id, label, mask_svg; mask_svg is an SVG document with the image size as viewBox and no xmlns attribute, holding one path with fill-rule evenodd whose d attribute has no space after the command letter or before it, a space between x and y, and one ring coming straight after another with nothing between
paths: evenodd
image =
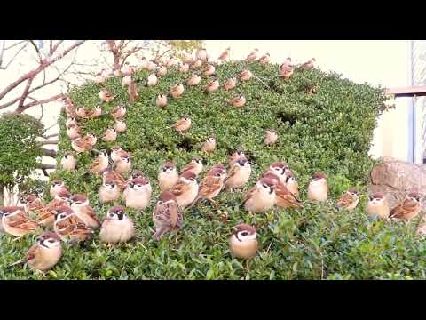
<instances>
[{"instance_id":1,"label":"leftmost brown sparrow, side-on, touching the photo's left edge","mask_svg":"<svg viewBox=\"0 0 426 320\"><path fill-rule=\"evenodd\" d=\"M22 236L35 232L38 228L36 221L31 220L25 213L23 207L7 206L0 207L0 216L2 216L2 224L4 232L16 236L15 240Z\"/></svg>"}]
</instances>

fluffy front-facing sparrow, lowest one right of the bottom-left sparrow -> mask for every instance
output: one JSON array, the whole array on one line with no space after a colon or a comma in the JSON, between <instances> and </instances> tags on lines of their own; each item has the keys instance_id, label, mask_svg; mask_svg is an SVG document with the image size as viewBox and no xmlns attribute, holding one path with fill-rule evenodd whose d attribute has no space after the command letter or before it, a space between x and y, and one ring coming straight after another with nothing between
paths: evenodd
<instances>
[{"instance_id":1,"label":"fluffy front-facing sparrow, lowest one right of the bottom-left sparrow","mask_svg":"<svg viewBox=\"0 0 426 320\"><path fill-rule=\"evenodd\" d=\"M107 244L126 243L135 236L135 232L133 221L124 212L124 207L117 205L106 213L99 237Z\"/></svg>"}]
</instances>

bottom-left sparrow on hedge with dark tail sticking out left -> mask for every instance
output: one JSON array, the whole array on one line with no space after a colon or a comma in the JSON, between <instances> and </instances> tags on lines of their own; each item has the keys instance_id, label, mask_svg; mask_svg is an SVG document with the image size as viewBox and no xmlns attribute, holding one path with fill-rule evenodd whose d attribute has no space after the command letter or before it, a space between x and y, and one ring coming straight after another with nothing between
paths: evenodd
<instances>
[{"instance_id":1,"label":"bottom-left sparrow on hedge with dark tail sticking out left","mask_svg":"<svg viewBox=\"0 0 426 320\"><path fill-rule=\"evenodd\" d=\"M61 257L62 247L59 236L55 232L45 231L37 237L36 244L29 248L27 256L9 267L28 264L33 270L43 273L55 267Z\"/></svg>"}]
</instances>

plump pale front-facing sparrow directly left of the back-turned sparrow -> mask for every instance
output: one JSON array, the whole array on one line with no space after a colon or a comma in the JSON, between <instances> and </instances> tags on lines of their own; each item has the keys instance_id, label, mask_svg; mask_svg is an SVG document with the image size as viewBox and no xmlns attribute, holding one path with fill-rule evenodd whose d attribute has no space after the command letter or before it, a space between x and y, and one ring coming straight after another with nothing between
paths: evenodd
<instances>
[{"instance_id":1,"label":"plump pale front-facing sparrow directly left of the back-turned sparrow","mask_svg":"<svg viewBox=\"0 0 426 320\"><path fill-rule=\"evenodd\" d=\"M127 183L123 197L127 207L145 210L151 200L153 189L146 178L132 179Z\"/></svg>"}]
</instances>

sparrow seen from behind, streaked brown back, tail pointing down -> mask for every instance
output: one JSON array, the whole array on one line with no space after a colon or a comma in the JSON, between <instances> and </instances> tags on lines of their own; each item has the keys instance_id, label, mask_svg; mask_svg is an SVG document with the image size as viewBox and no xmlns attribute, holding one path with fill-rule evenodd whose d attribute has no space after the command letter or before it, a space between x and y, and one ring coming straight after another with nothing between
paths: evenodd
<instances>
[{"instance_id":1,"label":"sparrow seen from behind, streaked brown back, tail pointing down","mask_svg":"<svg viewBox=\"0 0 426 320\"><path fill-rule=\"evenodd\" d=\"M159 240L166 232L182 228L183 214L177 198L169 190L160 195L153 212L154 239Z\"/></svg>"}]
</instances>

